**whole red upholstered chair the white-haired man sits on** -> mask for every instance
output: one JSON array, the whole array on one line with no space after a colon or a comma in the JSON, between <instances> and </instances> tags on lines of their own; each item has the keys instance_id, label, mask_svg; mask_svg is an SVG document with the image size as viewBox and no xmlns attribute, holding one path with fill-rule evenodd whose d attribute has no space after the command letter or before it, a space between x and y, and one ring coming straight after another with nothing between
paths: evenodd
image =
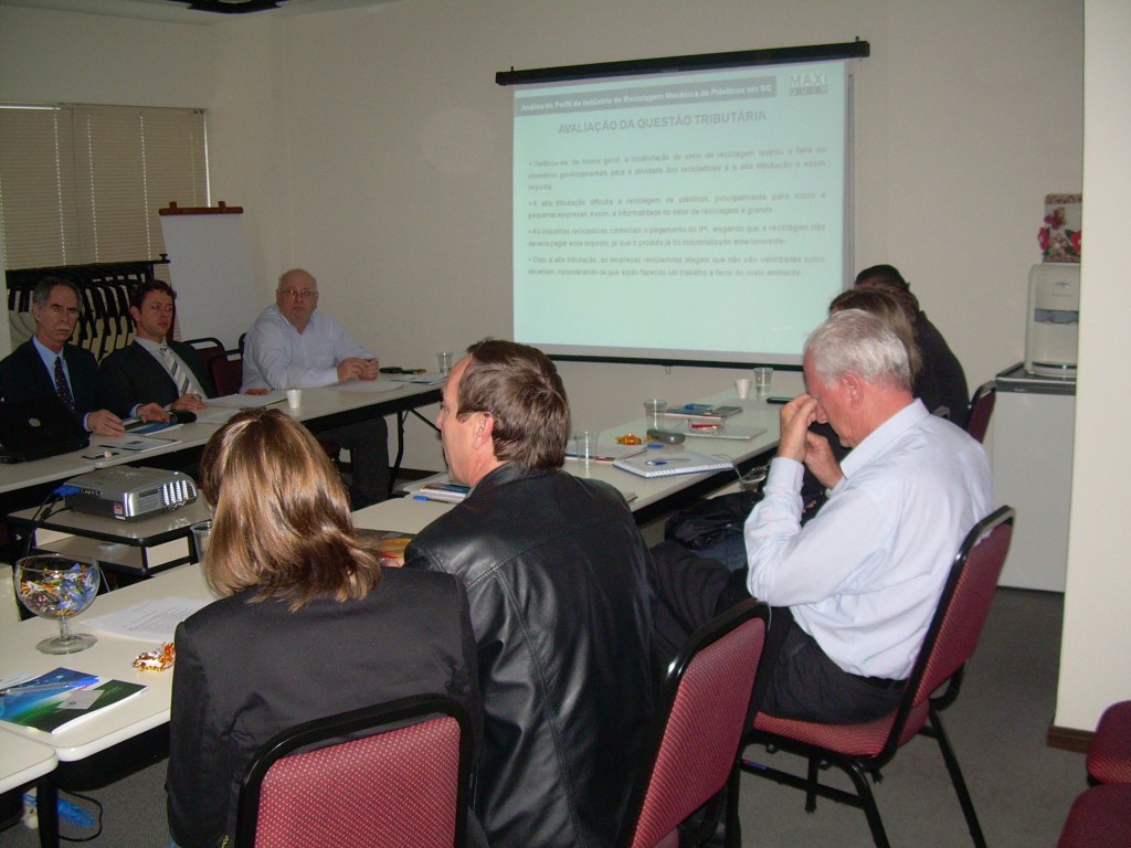
<instances>
[{"instance_id":1,"label":"whole red upholstered chair the white-haired man sits on","mask_svg":"<svg viewBox=\"0 0 1131 848\"><path fill-rule=\"evenodd\" d=\"M809 773L802 778L751 760L743 760L743 769L804 789L805 808L810 812L817 807L818 795L863 808L875 845L887 848L888 837L869 786L869 775L878 775L900 746L922 733L938 741L974 843L985 848L985 837L942 726L941 712L958 698L962 672L990 613L1012 531L1013 510L1002 507L966 536L907 680L906 694L895 712L858 725L826 725L759 713L746 744L804 756L809 760ZM822 763L845 771L856 791L820 782L818 769Z\"/></svg>"}]
</instances>

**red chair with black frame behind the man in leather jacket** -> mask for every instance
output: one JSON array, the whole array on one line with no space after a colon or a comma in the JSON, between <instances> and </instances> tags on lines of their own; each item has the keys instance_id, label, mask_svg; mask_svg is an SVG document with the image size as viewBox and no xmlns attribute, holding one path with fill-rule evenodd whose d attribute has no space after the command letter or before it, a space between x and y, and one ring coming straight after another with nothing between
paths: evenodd
<instances>
[{"instance_id":1,"label":"red chair with black frame behind the man in leather jacket","mask_svg":"<svg viewBox=\"0 0 1131 848\"><path fill-rule=\"evenodd\" d=\"M739 845L739 743L750 726L767 620L766 605L751 598L696 631L672 660L621 848L675 848L676 825L728 784L727 845ZM703 838L717 824L717 807L711 812Z\"/></svg>"}]
</instances>

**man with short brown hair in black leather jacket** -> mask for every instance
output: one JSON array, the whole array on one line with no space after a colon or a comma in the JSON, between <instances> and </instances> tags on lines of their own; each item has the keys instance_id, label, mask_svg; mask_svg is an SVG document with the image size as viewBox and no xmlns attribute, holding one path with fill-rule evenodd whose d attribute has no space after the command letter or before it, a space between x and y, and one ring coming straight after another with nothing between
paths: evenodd
<instances>
[{"instance_id":1,"label":"man with short brown hair in black leather jacket","mask_svg":"<svg viewBox=\"0 0 1131 848\"><path fill-rule=\"evenodd\" d=\"M624 499L561 470L569 406L532 347L473 345L437 424L468 497L405 565L458 574L478 646L473 808L493 846L611 846L653 712L651 560Z\"/></svg>"}]
</instances>

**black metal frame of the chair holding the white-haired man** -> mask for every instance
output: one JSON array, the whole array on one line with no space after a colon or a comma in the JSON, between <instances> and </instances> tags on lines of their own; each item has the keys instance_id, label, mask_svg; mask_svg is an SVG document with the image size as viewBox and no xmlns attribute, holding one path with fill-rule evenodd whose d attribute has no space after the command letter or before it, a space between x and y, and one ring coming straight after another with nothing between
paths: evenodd
<instances>
[{"instance_id":1,"label":"black metal frame of the chair holding the white-haired man","mask_svg":"<svg viewBox=\"0 0 1131 848\"><path fill-rule=\"evenodd\" d=\"M955 591L958 587L958 581L966 568L967 559L969 557L970 552L978 544L978 542L992 534L1000 526L1012 525L1015 514L1015 510L1011 507L1001 507L986 518L978 521L978 523L974 526L962 540L958 554L955 557L955 562L951 565L950 574L943 587L942 595L940 596L939 606L935 609L934 616L931 620L931 625L924 637L923 647L920 649L918 658L915 660L912 674L907 678L907 687L905 690L904 699L897 710L895 722L888 733L887 742L879 753L874 756L866 758L843 755L826 747L810 745L808 743L783 737L777 734L754 729L751 730L751 733L748 734L746 738L743 741L744 747L746 745L758 744L765 745L769 753L785 751L787 753L803 756L809 761L808 775L802 778L788 771L782 771L749 759L741 760L742 769L751 775L763 777L785 786L792 786L795 789L802 789L805 793L806 812L811 813L817 810L818 795L840 804L856 807L857 810L863 810L865 816L867 817L869 828L872 831L872 838L877 848L888 848L890 842L888 841L887 831L883 828L880 808L875 803L875 795L869 785L869 776L871 776L875 782L880 782L883 779L880 773L880 769L892 760L896 752L901 746L900 738L904 734L905 727L907 726L907 721L910 718L910 712L915 701L915 692L918 689L924 673L926 672L935 642L939 639L939 632L942 629L943 620L948 608L950 607L950 602L953 598ZM974 802L970 799L970 793L966 785L966 779L962 777L961 767L958 763L958 758L955 754L955 749L950 743L950 737L947 735L940 715L942 710L947 709L958 698L958 693L961 690L964 673L965 667L959 668L946 681L943 686L940 689L939 694L930 696L927 700L929 724L924 725L918 733L938 742L939 749L942 752L943 761L947 765L947 771L950 775L950 781L955 788L955 794L958 796L958 803L961 806L962 815L966 817L966 824L970 831L970 837L974 840L975 846L978 848L986 848L985 836L982 832L982 825L978 822L977 812L974 810ZM829 786L828 784L822 784L819 779L818 770L828 765L834 765L844 771L852 780L856 791L851 793L838 787Z\"/></svg>"}]
</instances>

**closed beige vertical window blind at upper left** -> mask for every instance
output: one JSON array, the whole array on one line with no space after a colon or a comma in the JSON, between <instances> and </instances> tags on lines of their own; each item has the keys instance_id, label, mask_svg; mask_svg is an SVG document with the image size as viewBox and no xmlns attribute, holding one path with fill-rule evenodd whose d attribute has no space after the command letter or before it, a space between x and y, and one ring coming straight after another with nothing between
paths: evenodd
<instances>
[{"instance_id":1,"label":"closed beige vertical window blind at upper left","mask_svg":"<svg viewBox=\"0 0 1131 848\"><path fill-rule=\"evenodd\" d=\"M157 210L208 205L201 110L0 109L3 267L157 259Z\"/></svg>"}]
</instances>

